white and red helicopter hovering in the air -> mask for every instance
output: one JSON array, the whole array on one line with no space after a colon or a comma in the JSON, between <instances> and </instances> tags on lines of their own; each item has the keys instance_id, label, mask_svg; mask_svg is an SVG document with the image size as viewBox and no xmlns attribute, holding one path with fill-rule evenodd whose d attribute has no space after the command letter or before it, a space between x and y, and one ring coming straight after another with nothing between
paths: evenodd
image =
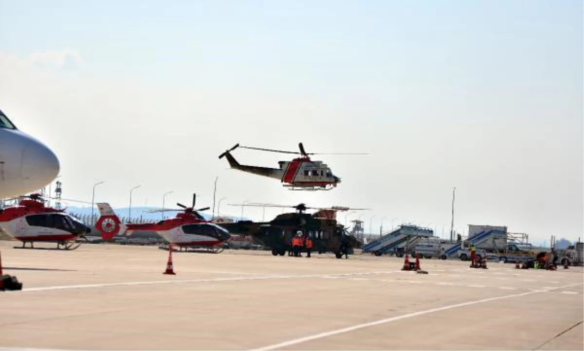
<instances>
[{"instance_id":1,"label":"white and red helicopter hovering in the air","mask_svg":"<svg viewBox=\"0 0 584 351\"><path fill-rule=\"evenodd\" d=\"M239 164L231 152L237 148L260 150L276 153L287 153L300 155L291 161L278 162L279 168L267 168L258 166L247 166ZM264 148L252 148L251 146L240 146L236 144L231 149L226 150L219 155L219 159L224 156L227 158L232 169L258 174L259 176L270 177L280 180L284 187L291 190L331 190L340 183L340 178L335 176L331 169L321 161L312 161L311 155L325 155L322 153L307 153L304 150L304 145L298 143L300 152L297 151L282 151ZM366 155L365 153L329 153L326 155Z\"/></svg>"}]
</instances>

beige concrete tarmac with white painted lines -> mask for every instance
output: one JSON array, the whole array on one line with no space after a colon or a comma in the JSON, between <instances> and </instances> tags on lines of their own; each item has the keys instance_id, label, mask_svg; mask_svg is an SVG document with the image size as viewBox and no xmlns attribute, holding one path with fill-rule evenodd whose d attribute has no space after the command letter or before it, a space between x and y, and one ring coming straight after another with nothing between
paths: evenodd
<instances>
[{"instance_id":1,"label":"beige concrete tarmac with white painted lines","mask_svg":"<svg viewBox=\"0 0 584 351\"><path fill-rule=\"evenodd\" d=\"M15 244L0 350L584 350L582 267L225 250L174 252L173 276L157 247Z\"/></svg>"}]
</instances>

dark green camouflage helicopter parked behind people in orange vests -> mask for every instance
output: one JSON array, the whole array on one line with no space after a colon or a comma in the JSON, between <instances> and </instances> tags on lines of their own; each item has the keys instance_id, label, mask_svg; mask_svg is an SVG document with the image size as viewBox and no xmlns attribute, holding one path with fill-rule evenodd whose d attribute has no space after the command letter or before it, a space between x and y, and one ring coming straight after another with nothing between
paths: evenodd
<instances>
[{"instance_id":1,"label":"dark green camouflage helicopter parked behind people in orange vests","mask_svg":"<svg viewBox=\"0 0 584 351\"><path fill-rule=\"evenodd\" d=\"M257 206L257 207L279 207L294 208L296 212L282 213L270 222L252 222L242 220L236 223L217 223L227 229L231 234L253 236L267 247L272 249L274 256L286 254L291 250L292 238L297 231L302 231L304 237L312 238L312 251L322 254L333 252L336 258L343 255L343 244L347 248L347 253L352 254L353 248L361 247L362 243L356 237L349 234L342 224L336 221L337 211L347 211L351 208L333 206L331 208L311 208L304 203L296 206L272 205L265 203L245 203L243 205L231 204L233 206ZM307 209L318 210L315 213L305 213ZM364 209L351 209L364 210Z\"/></svg>"}]
</instances>

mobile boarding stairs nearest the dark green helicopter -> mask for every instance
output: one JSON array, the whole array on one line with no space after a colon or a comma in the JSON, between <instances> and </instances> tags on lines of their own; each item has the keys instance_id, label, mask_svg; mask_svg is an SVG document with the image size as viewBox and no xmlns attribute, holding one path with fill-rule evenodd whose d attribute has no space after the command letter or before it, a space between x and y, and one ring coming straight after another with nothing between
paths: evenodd
<instances>
[{"instance_id":1,"label":"mobile boarding stairs nearest the dark green helicopter","mask_svg":"<svg viewBox=\"0 0 584 351\"><path fill-rule=\"evenodd\" d=\"M412 225L402 225L389 233L378 238L377 240L371 241L371 243L364 245L362 248L363 252L371 252L376 256L381 256L383 254L388 254L392 250L398 247L404 247L406 245L411 245L413 241L420 237L431 237L434 235L432 229L422 228Z\"/></svg>"}]
</instances>

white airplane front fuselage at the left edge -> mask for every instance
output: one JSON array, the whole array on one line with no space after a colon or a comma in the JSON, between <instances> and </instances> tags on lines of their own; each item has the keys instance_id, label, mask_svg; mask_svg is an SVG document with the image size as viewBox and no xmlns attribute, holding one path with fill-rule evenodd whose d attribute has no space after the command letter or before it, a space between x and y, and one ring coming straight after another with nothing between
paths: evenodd
<instances>
[{"instance_id":1,"label":"white airplane front fuselage at the left edge","mask_svg":"<svg viewBox=\"0 0 584 351\"><path fill-rule=\"evenodd\" d=\"M57 177L59 167L51 149L16 129L0 111L0 199L44 187Z\"/></svg>"}]
</instances>

